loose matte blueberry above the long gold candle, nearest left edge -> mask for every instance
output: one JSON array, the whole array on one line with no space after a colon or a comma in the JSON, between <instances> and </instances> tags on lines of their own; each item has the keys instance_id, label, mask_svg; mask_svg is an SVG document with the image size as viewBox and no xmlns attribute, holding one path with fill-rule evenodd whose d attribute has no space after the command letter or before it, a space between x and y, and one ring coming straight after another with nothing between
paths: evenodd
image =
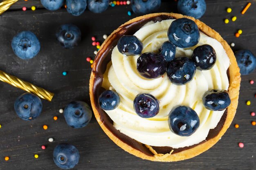
<instances>
[{"instance_id":1,"label":"loose matte blueberry above the long gold candle, nearest left edge","mask_svg":"<svg viewBox=\"0 0 256 170\"><path fill-rule=\"evenodd\" d=\"M27 60L39 53L40 42L34 33L22 31L13 37L11 47L18 57Z\"/></svg>"}]
</instances>

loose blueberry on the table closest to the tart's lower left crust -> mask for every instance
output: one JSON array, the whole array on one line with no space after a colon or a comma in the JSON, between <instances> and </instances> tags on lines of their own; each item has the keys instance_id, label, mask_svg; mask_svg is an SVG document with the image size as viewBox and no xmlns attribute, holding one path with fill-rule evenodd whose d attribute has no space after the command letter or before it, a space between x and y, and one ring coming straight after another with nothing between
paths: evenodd
<instances>
[{"instance_id":1,"label":"loose blueberry on the table closest to the tart's lower left crust","mask_svg":"<svg viewBox=\"0 0 256 170\"><path fill-rule=\"evenodd\" d=\"M90 106L81 101L71 102L64 109L64 117L68 126L82 128L89 124L92 119Z\"/></svg>"}]
</instances>

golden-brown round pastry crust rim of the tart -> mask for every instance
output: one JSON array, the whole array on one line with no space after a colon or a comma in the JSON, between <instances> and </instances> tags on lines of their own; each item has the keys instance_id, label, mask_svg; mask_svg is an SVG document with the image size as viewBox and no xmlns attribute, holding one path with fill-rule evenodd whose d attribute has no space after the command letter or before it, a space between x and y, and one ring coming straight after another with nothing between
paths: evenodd
<instances>
[{"instance_id":1,"label":"golden-brown round pastry crust rim of the tart","mask_svg":"<svg viewBox=\"0 0 256 170\"><path fill-rule=\"evenodd\" d=\"M234 56L233 51L231 50L230 46L227 44L227 42L225 40L223 40L223 38L220 36L219 33L217 33L216 31L214 31L213 29L211 29L209 26L207 26L206 24L204 24L203 22L199 21L199 20L195 20L195 18L193 17L189 17L189 16L184 16L181 14L177 14L177 13L153 13L153 14L148 14L148 15L144 15L144 16L140 16L137 18L134 18L128 22L126 22L123 25L127 25L127 24L131 24L133 22L137 22L139 20L142 20L144 18L151 18L151 17L155 17L155 16L159 16L159 15L168 15L171 16L173 18L189 18L193 21L195 21L195 23L198 25L198 28L200 29L200 31L202 31L203 33L205 33L206 35L208 35L211 38L214 38L216 40L218 40L223 48L225 49L229 60L230 60L230 66L229 66L229 96L231 99L231 104L228 107L228 111L227 111L227 118L225 120L225 124L223 125L222 129L220 130L219 134L212 138L209 139L208 141L199 144L193 148L189 148L186 150L183 150L181 152L177 152L175 154L157 154L157 152L155 152L155 150L153 150L152 147L150 146L146 146L147 148L149 148L149 150L155 154L155 156L148 156L145 153L136 150L135 148L132 148L131 146L127 145L126 143L124 143L123 141L121 141L119 138L117 138L115 135L113 135L113 133L106 128L106 126L103 124L103 122L101 122L100 119L100 115L97 111L97 109L95 108L96 104L94 103L94 95L93 95L93 86L94 86L94 79L95 79L95 73L92 71L91 73L91 77L90 77L90 99L91 99L91 104L92 104L92 109L94 111L94 115L97 119L97 121L99 122L99 125L101 126L101 128L103 129L103 131L108 135L108 137L110 137L110 139L112 141L115 142L115 144L117 144L119 147L121 147L122 149L126 150L127 152L129 152L132 155L135 155L137 157L140 157L142 159L148 159L150 161L164 161L164 162L171 162L171 161L181 161L184 159L189 159L192 157L195 157L199 154L201 154L202 152L208 150L209 148L211 148L214 144L216 144L218 142L218 140L222 137L222 135L224 135L224 133L227 131L227 129L229 128L235 114L236 114L236 108L238 106L238 95L239 95L239 89L240 89L240 73L239 73L239 68L236 62L236 58ZM123 26L121 25L121 26ZM96 62L99 62L99 58L101 57L101 55L104 52L104 49L106 49L108 47L108 45L110 44L110 42L112 41L112 35L114 33L117 33L118 31L121 30L121 26L115 30L106 40L105 42L103 42L103 44L101 45L101 48L99 49L99 52L96 56L96 59L94 60L94 66L96 64ZM92 68L92 70L94 70L94 68Z\"/></svg>"}]
</instances>

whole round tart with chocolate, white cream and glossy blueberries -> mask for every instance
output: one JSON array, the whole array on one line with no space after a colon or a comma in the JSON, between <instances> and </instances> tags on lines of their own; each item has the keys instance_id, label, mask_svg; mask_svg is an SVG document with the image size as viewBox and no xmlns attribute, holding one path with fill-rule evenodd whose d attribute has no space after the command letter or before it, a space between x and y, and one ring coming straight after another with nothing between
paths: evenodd
<instances>
[{"instance_id":1,"label":"whole round tart with chocolate, white cream and glossy blueberries","mask_svg":"<svg viewBox=\"0 0 256 170\"><path fill-rule=\"evenodd\" d=\"M227 42L175 13L121 25L101 45L90 77L101 128L119 147L151 161L189 159L216 144L234 118L239 88Z\"/></svg>"}]
</instances>

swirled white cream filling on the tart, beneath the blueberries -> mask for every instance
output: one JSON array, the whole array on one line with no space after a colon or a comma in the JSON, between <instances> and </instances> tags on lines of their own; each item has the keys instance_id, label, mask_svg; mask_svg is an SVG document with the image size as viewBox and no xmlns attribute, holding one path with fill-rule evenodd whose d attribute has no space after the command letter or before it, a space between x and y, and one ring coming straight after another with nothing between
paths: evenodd
<instances>
[{"instance_id":1,"label":"swirled white cream filling on the tart, beneath the blueberries","mask_svg":"<svg viewBox=\"0 0 256 170\"><path fill-rule=\"evenodd\" d=\"M150 22L134 35L143 44L145 52L158 52L163 42L167 41L167 30L173 20ZM157 79L141 77L136 69L136 56L119 53L117 46L112 51L112 63L108 64L103 78L103 87L117 91L121 98L115 110L106 113L114 122L115 128L125 135L150 146L170 146L181 148L198 144L206 139L209 130L217 126L224 111L210 111L202 104L202 95L209 89L225 89L229 87L227 69L229 57L220 42L200 33L197 46L211 45L217 55L215 66L208 71L196 70L195 77L186 85L176 86L170 82L166 73ZM175 57L191 57L193 49L176 48ZM139 117L133 109L133 100L139 93L150 93L159 100L160 111L149 119ZM174 106L185 105L193 108L200 118L198 130L189 137L181 137L171 132L168 126L168 114Z\"/></svg>"}]
</instances>

